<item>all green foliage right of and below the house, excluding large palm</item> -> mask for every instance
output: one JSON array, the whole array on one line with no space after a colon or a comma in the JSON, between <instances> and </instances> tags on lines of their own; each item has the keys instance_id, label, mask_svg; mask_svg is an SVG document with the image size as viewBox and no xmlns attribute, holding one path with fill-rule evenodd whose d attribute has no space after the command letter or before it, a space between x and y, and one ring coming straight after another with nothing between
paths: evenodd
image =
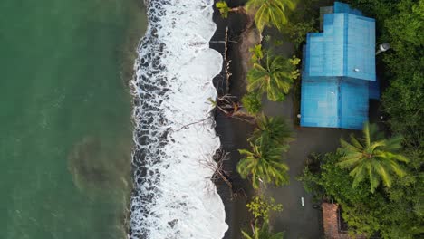
<instances>
[{"instance_id":1,"label":"all green foliage right of and below the house, excluding large palm","mask_svg":"<svg viewBox=\"0 0 424 239\"><path fill-rule=\"evenodd\" d=\"M377 56L378 70L383 74L383 80L389 82L389 87L382 92L381 104L392 133L404 138L400 153L409 158L410 163L402 168L404 177L391 180L390 187L377 187L373 194L369 189L370 177L365 177L356 188L352 188L354 179L349 177L348 169L336 165L342 158L338 154L321 157L319 169L307 166L300 179L306 189L317 196L336 200L342 206L343 219L353 233L368 236L378 234L381 238L390 239L422 238L424 1L346 2L361 9L365 15L375 17L377 43L387 42L391 45L389 51Z\"/></svg>"}]
</instances>

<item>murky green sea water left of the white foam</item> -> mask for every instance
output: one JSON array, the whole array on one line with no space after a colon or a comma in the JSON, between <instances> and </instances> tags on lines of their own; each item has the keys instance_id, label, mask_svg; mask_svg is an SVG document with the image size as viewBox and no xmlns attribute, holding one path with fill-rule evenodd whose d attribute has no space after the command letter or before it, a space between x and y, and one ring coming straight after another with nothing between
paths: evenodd
<instances>
[{"instance_id":1,"label":"murky green sea water left of the white foam","mask_svg":"<svg viewBox=\"0 0 424 239\"><path fill-rule=\"evenodd\" d=\"M139 0L0 1L0 238L123 238Z\"/></svg>"}]
</instances>

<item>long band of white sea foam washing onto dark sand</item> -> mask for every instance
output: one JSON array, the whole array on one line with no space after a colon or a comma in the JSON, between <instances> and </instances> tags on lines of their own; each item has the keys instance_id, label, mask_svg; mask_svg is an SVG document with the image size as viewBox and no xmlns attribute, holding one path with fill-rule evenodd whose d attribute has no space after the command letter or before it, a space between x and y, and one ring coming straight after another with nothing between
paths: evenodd
<instances>
[{"instance_id":1,"label":"long band of white sea foam washing onto dark sand","mask_svg":"<svg viewBox=\"0 0 424 239\"><path fill-rule=\"evenodd\" d=\"M225 211L207 164L220 146L208 98L222 67L209 49L213 0L150 0L134 86L132 238L222 238ZM198 123L196 123L198 122Z\"/></svg>"}]
</instances>

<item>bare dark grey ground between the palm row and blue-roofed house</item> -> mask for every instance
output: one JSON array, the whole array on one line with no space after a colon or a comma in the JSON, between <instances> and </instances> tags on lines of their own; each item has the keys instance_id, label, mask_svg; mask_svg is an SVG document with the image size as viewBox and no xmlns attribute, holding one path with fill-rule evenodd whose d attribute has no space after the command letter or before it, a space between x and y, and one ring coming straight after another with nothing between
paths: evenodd
<instances>
[{"instance_id":1,"label":"bare dark grey ground between the palm row and blue-roofed house","mask_svg":"<svg viewBox=\"0 0 424 239\"><path fill-rule=\"evenodd\" d=\"M283 116L294 124L293 98L284 102L265 102L265 113L272 116ZM274 196L277 203L283 204L283 212L271 215L274 231L285 231L287 239L322 238L321 212L313 209L313 197L304 191L302 183L296 177L302 173L304 162L311 152L330 152L339 145L339 139L349 135L345 129L300 128L294 127L295 141L284 155L284 161L290 167L290 185L268 186L265 192ZM304 197L304 206L301 203Z\"/></svg>"}]
</instances>

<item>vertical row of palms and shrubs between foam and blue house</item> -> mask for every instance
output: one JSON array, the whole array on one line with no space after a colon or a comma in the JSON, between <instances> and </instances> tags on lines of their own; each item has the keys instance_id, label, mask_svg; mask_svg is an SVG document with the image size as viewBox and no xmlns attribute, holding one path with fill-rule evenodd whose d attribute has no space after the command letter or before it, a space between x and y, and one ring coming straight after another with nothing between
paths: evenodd
<instances>
[{"instance_id":1,"label":"vertical row of palms and shrubs between foam and blue house","mask_svg":"<svg viewBox=\"0 0 424 239\"><path fill-rule=\"evenodd\" d=\"M288 10L294 9L294 1L250 0L246 8L240 6L230 8L225 1L219 1L216 6L224 18L230 12L246 14L245 9L250 16L255 14L255 26L262 33L265 26L275 26L282 30L287 22ZM253 22L248 21L248 29L251 29L253 25ZM249 53L252 55L250 63L253 68L247 75L247 93L242 97L241 105L229 98L218 99L219 103L215 105L227 116L234 118L245 109L250 117L255 119L246 120L254 122L255 129L248 139L250 148L239 150L243 158L238 162L236 170L241 177L248 177L255 189L268 184L281 186L288 183L288 167L282 161L283 153L288 150L288 143L294 139L284 119L267 117L264 113L260 113L262 96L266 93L268 100L284 100L294 80L299 76L296 66L300 60L295 57L285 59L281 56L265 54L261 43L249 48ZM282 210L281 205L275 204L274 198L265 199L259 192L259 196L255 196L246 206L254 215L255 225L252 224L252 234L242 231L245 238L283 238L282 233L272 234L268 230L269 211Z\"/></svg>"}]
</instances>

